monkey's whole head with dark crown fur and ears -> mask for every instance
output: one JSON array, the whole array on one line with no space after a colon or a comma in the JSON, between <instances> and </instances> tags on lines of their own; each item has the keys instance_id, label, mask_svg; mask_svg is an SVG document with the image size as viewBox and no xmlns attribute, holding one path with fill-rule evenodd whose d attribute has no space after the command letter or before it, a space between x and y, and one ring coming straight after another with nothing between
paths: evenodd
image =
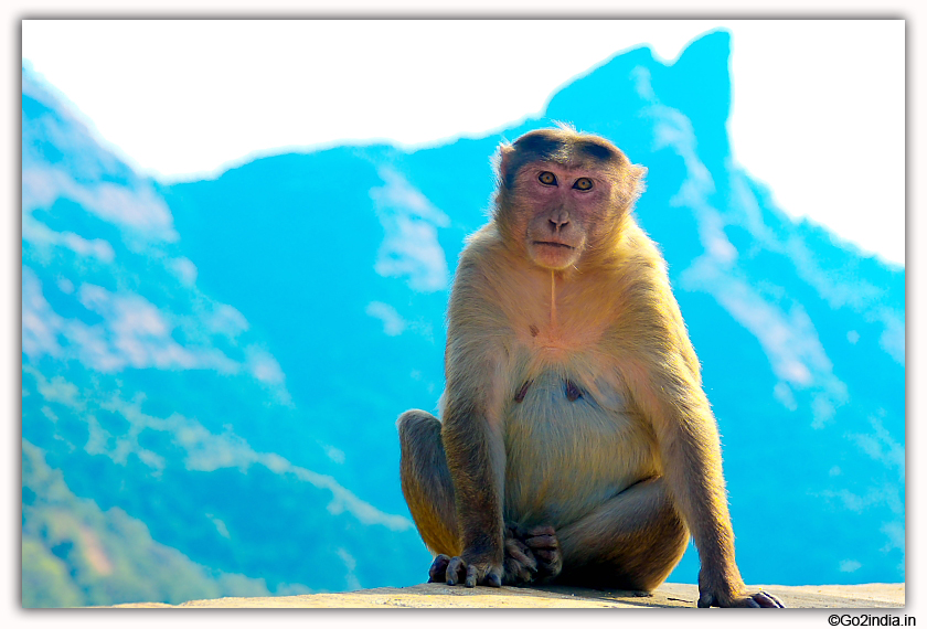
<instances>
[{"instance_id":1,"label":"monkey's whole head with dark crown fur and ears","mask_svg":"<svg viewBox=\"0 0 927 629\"><path fill-rule=\"evenodd\" d=\"M614 242L647 169L605 138L567 128L499 147L494 220L510 246L553 270Z\"/></svg>"}]
</instances>

